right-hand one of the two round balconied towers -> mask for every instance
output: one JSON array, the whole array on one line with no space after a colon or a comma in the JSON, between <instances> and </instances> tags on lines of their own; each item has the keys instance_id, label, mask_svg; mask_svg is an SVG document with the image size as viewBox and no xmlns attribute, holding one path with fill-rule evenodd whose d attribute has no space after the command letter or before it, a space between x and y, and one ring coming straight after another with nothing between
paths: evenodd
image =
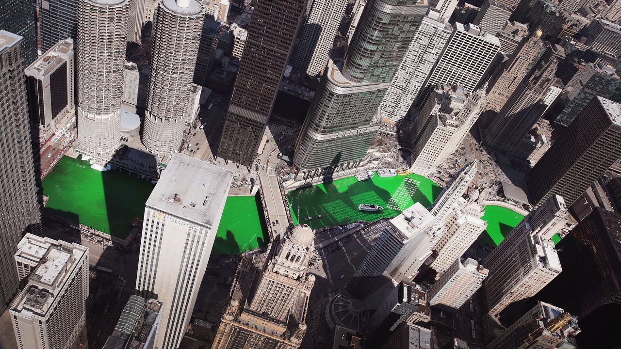
<instances>
[{"instance_id":1,"label":"right-hand one of the two round balconied towers","mask_svg":"<svg viewBox=\"0 0 621 349\"><path fill-rule=\"evenodd\" d=\"M164 155L174 152L183 137L205 9L201 1L162 0L154 17L142 142Z\"/></svg>"}]
</instances>

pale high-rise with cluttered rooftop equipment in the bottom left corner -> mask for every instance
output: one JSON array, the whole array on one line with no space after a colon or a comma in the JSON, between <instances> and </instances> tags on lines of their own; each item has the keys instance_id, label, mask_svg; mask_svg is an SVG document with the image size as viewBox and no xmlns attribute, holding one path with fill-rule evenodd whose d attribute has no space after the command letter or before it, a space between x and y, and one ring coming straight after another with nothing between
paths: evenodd
<instances>
[{"instance_id":1,"label":"pale high-rise with cluttered rooftop equipment in the bottom left corner","mask_svg":"<svg viewBox=\"0 0 621 349\"><path fill-rule=\"evenodd\" d=\"M88 248L27 233L15 253L28 278L11 305L20 349L71 348L86 320Z\"/></svg>"}]
</instances>

